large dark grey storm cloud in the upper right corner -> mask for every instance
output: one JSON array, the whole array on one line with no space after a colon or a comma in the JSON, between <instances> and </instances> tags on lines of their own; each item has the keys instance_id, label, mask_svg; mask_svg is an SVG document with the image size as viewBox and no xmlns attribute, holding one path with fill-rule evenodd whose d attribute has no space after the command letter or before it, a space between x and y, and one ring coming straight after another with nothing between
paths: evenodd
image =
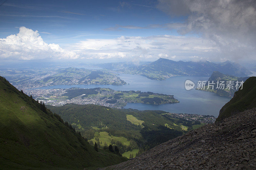
<instances>
[{"instance_id":1,"label":"large dark grey storm cloud in the upper right corner","mask_svg":"<svg viewBox=\"0 0 256 170\"><path fill-rule=\"evenodd\" d=\"M221 57L255 58L256 0L159 0L157 8L187 17L186 27L178 31L215 41Z\"/></svg>"}]
</instances>

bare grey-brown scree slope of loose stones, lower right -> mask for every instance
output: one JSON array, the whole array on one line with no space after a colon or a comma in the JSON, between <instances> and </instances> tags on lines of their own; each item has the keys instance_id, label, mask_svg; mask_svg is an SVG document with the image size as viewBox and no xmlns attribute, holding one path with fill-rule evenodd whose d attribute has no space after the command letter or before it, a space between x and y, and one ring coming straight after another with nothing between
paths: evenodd
<instances>
[{"instance_id":1,"label":"bare grey-brown scree slope of loose stones, lower right","mask_svg":"<svg viewBox=\"0 0 256 170\"><path fill-rule=\"evenodd\" d=\"M105 169L255 169L256 108L160 144Z\"/></svg>"}]
</instances>

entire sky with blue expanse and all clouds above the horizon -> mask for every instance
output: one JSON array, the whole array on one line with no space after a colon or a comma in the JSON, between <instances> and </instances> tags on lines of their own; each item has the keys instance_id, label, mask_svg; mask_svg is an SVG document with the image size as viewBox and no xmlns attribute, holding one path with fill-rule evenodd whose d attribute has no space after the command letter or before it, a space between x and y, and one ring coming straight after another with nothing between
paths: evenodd
<instances>
[{"instance_id":1,"label":"entire sky with blue expanse and all clouds above the horizon","mask_svg":"<svg viewBox=\"0 0 256 170\"><path fill-rule=\"evenodd\" d=\"M256 58L256 0L5 1L0 61Z\"/></svg>"}]
</instances>

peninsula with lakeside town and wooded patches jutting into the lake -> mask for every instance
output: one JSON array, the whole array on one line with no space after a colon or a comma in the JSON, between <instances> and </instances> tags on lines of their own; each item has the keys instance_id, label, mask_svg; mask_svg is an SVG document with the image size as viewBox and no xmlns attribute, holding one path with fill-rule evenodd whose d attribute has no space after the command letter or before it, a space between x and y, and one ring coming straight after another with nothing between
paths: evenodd
<instances>
[{"instance_id":1,"label":"peninsula with lakeside town and wooded patches jutting into the lake","mask_svg":"<svg viewBox=\"0 0 256 170\"><path fill-rule=\"evenodd\" d=\"M110 88L30 89L24 92L29 96L32 95L34 99L52 106L75 103L123 108L127 103L179 103L173 95L140 91L116 91Z\"/></svg>"}]
</instances>

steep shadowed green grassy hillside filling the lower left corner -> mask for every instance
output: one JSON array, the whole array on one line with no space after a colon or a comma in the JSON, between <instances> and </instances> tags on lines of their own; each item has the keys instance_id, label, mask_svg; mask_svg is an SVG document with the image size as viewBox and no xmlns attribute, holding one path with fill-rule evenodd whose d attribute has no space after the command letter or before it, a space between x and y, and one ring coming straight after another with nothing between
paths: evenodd
<instances>
[{"instance_id":1,"label":"steep shadowed green grassy hillside filling the lower left corner","mask_svg":"<svg viewBox=\"0 0 256 170\"><path fill-rule=\"evenodd\" d=\"M0 77L0 169L83 169L124 160L93 147L23 92Z\"/></svg>"}]
</instances>

